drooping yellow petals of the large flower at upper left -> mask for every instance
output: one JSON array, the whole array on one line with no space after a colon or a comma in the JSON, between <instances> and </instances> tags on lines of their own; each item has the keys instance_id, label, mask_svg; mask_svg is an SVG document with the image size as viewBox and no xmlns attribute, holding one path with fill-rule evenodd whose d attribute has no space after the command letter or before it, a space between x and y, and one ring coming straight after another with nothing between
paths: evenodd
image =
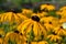
<instances>
[{"instance_id":1,"label":"drooping yellow petals of the large flower at upper left","mask_svg":"<svg viewBox=\"0 0 66 44\"><path fill-rule=\"evenodd\" d=\"M25 15L22 15L22 13L13 13L13 12L6 12L1 15L1 22L20 22L22 20L28 19Z\"/></svg>"}]
</instances>

